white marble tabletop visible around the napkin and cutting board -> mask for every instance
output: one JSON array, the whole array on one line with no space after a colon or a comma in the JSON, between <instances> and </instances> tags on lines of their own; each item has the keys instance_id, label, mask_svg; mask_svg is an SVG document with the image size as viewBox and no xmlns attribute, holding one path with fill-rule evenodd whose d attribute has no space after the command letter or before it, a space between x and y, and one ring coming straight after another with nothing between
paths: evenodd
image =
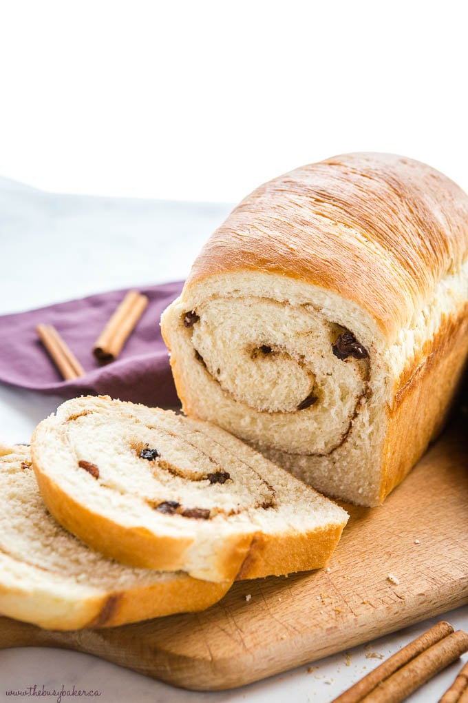
<instances>
[{"instance_id":1,"label":"white marble tabletop visible around the napkin and cutting board","mask_svg":"<svg viewBox=\"0 0 468 703\"><path fill-rule=\"evenodd\" d=\"M227 212L229 205L51 195L0 179L0 314L127 285L184 278L201 243ZM0 387L0 441L29 441L36 423L59 403L54 396ZM356 647L351 657L341 653L315 662L313 671L301 666L220 693L178 690L77 652L1 650L0 701L29 700L31 695L11 696L7 691L34 684L40 689L44 684L47 689L75 685L98 690L99 696L86 700L102 703L328 703L380 663L366 654L387 657L439 619ZM468 629L468 607L446 619ZM410 700L436 702L460 666L450 666ZM45 702L56 699L41 697ZM72 698L62 697L67 700Z\"/></svg>"}]
</instances>

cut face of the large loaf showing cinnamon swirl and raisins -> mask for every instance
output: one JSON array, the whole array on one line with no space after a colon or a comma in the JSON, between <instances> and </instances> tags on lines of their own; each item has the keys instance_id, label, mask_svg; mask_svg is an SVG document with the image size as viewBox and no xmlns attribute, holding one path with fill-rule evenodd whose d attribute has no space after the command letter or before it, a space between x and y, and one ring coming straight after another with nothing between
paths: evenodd
<instances>
[{"instance_id":1,"label":"cut face of the large loaf showing cinnamon swirl and raisins","mask_svg":"<svg viewBox=\"0 0 468 703\"><path fill-rule=\"evenodd\" d=\"M313 295L260 272L189 287L161 320L175 384L188 415L328 496L375 505L387 422L386 376L375 363L382 338L351 305ZM187 309L196 311L188 328Z\"/></svg>"}]
</instances>

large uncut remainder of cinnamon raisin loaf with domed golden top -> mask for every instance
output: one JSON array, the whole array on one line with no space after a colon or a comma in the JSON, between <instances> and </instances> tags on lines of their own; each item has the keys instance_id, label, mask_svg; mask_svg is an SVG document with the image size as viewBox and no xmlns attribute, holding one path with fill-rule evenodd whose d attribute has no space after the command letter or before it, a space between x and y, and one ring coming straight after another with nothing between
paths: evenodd
<instances>
[{"instance_id":1,"label":"large uncut remainder of cinnamon raisin loaf with domed golden top","mask_svg":"<svg viewBox=\"0 0 468 703\"><path fill-rule=\"evenodd\" d=\"M468 351L468 198L357 153L265 183L163 314L187 415L377 505L441 430Z\"/></svg>"}]
</instances>

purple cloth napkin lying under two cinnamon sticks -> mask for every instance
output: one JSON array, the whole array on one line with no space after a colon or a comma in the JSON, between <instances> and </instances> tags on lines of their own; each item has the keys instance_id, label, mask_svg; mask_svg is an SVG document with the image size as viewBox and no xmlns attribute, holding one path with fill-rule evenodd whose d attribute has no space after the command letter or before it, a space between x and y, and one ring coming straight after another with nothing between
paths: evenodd
<instances>
[{"instance_id":1,"label":"purple cloth napkin lying under two cinnamon sticks","mask_svg":"<svg viewBox=\"0 0 468 703\"><path fill-rule=\"evenodd\" d=\"M0 382L74 398L109 394L149 406L178 406L169 357L159 320L182 290L183 283L139 288L149 303L116 361L100 364L93 344L126 290L0 317ZM86 375L64 381L37 337L39 323L53 325L67 342Z\"/></svg>"}]
</instances>

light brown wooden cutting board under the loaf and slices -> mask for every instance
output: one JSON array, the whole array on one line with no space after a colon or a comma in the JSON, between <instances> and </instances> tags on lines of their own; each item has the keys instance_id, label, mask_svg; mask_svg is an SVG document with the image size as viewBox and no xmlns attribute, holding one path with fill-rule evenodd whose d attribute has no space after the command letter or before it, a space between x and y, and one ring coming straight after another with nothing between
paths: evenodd
<instances>
[{"instance_id":1,"label":"light brown wooden cutting board under the loaf and slices","mask_svg":"<svg viewBox=\"0 0 468 703\"><path fill-rule=\"evenodd\" d=\"M328 569L235 583L203 613L107 630L46 631L0 617L0 647L66 647L185 688L220 690L463 605L464 434L446 433L382 507L346 506L352 517Z\"/></svg>"}]
</instances>

